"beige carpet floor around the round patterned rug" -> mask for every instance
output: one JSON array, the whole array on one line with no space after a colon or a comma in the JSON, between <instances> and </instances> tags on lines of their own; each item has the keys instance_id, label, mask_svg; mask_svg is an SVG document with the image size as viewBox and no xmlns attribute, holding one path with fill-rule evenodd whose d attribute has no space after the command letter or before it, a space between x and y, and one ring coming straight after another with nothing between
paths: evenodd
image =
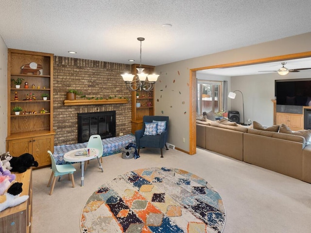
<instances>
[{"instance_id":1,"label":"beige carpet floor around the round patterned rug","mask_svg":"<svg viewBox=\"0 0 311 233\"><path fill-rule=\"evenodd\" d=\"M75 188L68 176L63 177L52 196L47 187L50 168L34 170L32 233L80 233L82 208L97 187L127 171L151 166L184 169L209 182L225 204L223 233L311 232L310 183L202 149L195 155L172 149L163 155L160 158L156 149L141 149L137 160L122 159L121 154L107 156L104 173L93 160L86 169L84 187L79 164L75 164Z\"/></svg>"}]
</instances>

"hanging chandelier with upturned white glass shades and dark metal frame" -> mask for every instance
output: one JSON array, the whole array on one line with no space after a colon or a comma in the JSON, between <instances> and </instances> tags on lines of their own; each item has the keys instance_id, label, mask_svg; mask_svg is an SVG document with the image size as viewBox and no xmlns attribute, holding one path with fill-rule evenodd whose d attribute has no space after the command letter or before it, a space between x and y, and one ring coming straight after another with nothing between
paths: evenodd
<instances>
[{"instance_id":1,"label":"hanging chandelier with upturned white glass shades and dark metal frame","mask_svg":"<svg viewBox=\"0 0 311 233\"><path fill-rule=\"evenodd\" d=\"M140 65L139 68L136 68L138 73L135 78L134 74L121 74L121 76L126 84L127 89L129 89L130 91L150 91L154 88L154 84L159 75L143 73L144 68L141 67L141 41L144 41L145 38L138 37L137 40L140 41Z\"/></svg>"}]
</instances>

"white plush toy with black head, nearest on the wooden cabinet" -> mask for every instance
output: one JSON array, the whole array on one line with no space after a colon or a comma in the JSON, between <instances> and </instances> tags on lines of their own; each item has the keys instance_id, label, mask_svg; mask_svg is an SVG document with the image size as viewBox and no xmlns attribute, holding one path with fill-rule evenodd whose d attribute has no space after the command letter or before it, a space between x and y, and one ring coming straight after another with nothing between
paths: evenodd
<instances>
[{"instance_id":1,"label":"white plush toy with black head, nearest on the wooden cabinet","mask_svg":"<svg viewBox=\"0 0 311 233\"><path fill-rule=\"evenodd\" d=\"M0 196L0 212L8 207L19 205L29 198L28 195L19 197L20 193L23 191L21 188L22 185L23 183L14 181L6 193Z\"/></svg>"}]
</instances>

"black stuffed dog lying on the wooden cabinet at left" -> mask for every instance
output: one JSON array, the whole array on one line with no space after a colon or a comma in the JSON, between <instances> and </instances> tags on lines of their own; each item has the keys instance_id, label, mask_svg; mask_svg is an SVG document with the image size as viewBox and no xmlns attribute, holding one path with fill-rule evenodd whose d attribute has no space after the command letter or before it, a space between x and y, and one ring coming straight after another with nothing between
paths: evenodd
<instances>
[{"instance_id":1,"label":"black stuffed dog lying on the wooden cabinet at left","mask_svg":"<svg viewBox=\"0 0 311 233\"><path fill-rule=\"evenodd\" d=\"M10 160L10 165L12 166L11 171L17 171L19 173L23 173L27 170L27 168L31 166L38 166L38 162L35 161L35 158L30 153L24 153L18 157L12 157Z\"/></svg>"}]
</instances>

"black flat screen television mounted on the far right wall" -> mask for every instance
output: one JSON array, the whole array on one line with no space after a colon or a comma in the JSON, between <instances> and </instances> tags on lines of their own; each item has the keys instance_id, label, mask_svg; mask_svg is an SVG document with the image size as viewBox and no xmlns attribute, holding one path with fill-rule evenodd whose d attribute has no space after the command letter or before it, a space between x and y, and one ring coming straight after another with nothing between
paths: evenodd
<instances>
[{"instance_id":1,"label":"black flat screen television mounted on the far right wall","mask_svg":"<svg viewBox=\"0 0 311 233\"><path fill-rule=\"evenodd\" d=\"M275 81L276 104L311 106L311 78Z\"/></svg>"}]
</instances>

